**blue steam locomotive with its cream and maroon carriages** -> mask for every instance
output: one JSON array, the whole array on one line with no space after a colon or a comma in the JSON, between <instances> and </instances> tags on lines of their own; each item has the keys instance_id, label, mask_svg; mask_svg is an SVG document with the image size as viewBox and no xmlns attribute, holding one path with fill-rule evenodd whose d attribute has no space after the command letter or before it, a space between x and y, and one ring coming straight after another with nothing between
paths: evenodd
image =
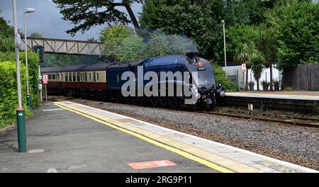
<instances>
[{"instance_id":1,"label":"blue steam locomotive with its cream and maroon carriages","mask_svg":"<svg viewBox=\"0 0 319 187\"><path fill-rule=\"evenodd\" d=\"M120 103L213 108L216 99L225 95L221 85L216 83L211 64L198 57L197 52L123 63L41 68L41 74L48 75L49 94L95 96Z\"/></svg>"}]
</instances>

